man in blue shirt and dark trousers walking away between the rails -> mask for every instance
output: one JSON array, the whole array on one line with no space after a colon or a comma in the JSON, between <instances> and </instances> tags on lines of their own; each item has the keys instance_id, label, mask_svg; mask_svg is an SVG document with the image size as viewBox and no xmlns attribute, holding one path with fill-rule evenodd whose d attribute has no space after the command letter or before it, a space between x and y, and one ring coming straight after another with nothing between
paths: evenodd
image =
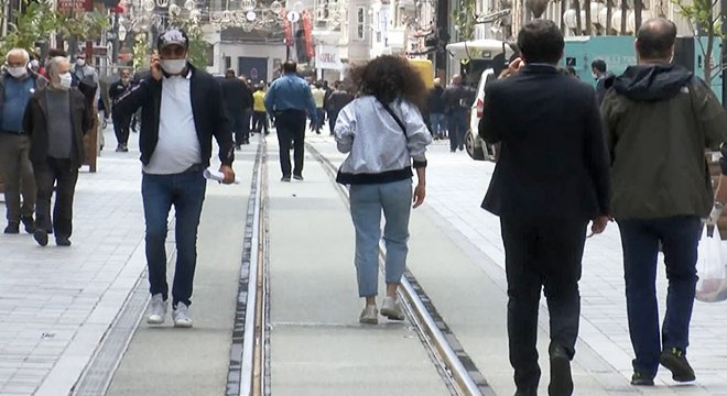
<instances>
[{"instance_id":1,"label":"man in blue shirt and dark trousers walking away between the rails","mask_svg":"<svg viewBox=\"0 0 727 396\"><path fill-rule=\"evenodd\" d=\"M311 119L311 129L317 125L316 106L307 82L297 75L297 64L285 61L283 75L274 80L265 94L265 110L275 118L278 144L280 145L280 167L282 182L290 182L291 175L303 180L303 155L305 150L305 116ZM291 145L294 167L291 172Z\"/></svg>"}]
</instances>

